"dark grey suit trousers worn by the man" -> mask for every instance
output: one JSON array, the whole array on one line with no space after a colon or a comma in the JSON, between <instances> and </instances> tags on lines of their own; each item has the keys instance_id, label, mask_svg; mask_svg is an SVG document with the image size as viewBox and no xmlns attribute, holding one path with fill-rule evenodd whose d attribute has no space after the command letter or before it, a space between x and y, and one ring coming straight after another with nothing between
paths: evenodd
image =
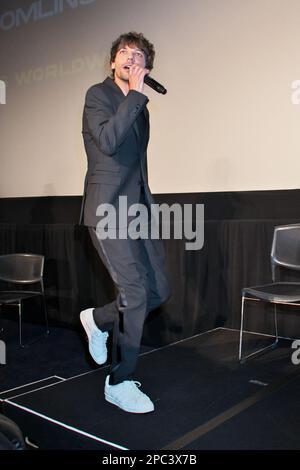
<instances>
[{"instance_id":1,"label":"dark grey suit trousers worn by the man","mask_svg":"<svg viewBox=\"0 0 300 470\"><path fill-rule=\"evenodd\" d=\"M170 295L164 247L162 240L99 240L95 228L89 233L117 289L114 302L93 312L102 331L113 330L110 384L115 385L133 378L147 314Z\"/></svg>"}]
</instances>

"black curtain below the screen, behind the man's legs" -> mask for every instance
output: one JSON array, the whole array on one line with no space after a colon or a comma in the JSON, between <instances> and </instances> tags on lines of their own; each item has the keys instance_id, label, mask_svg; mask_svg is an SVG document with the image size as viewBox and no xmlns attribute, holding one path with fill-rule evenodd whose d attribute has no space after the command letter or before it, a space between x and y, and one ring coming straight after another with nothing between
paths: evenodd
<instances>
[{"instance_id":1,"label":"black curtain below the screen, behind the man's legs","mask_svg":"<svg viewBox=\"0 0 300 470\"><path fill-rule=\"evenodd\" d=\"M144 344L161 345L225 326L239 328L242 287L271 280L270 250L275 225L299 219L207 220L204 247L187 251L186 240L165 240L172 297L152 312ZM45 287L53 324L77 327L83 308L114 298L114 288L86 227L74 223L0 223L0 254L45 256ZM272 315L251 309L251 330L272 333ZM253 312L252 312L253 311ZM250 310L249 310L250 312ZM281 309L280 334L300 333L299 311Z\"/></svg>"}]
</instances>

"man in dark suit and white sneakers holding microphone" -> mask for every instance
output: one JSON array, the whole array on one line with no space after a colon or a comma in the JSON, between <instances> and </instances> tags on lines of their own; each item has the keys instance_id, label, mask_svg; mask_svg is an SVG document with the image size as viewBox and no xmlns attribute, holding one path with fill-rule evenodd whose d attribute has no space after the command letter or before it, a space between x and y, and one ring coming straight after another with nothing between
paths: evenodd
<instances>
[{"instance_id":1,"label":"man in dark suit and white sneakers holding microphone","mask_svg":"<svg viewBox=\"0 0 300 470\"><path fill-rule=\"evenodd\" d=\"M153 202L147 177L149 113L144 90L144 76L152 69L153 60L153 45L142 34L121 35L111 48L113 78L88 90L83 113L88 159L84 225L89 227L118 295L111 304L84 310L80 319L90 354L98 364L107 360L106 341L113 332L105 399L132 413L154 410L133 378L146 316L169 297L162 241L130 238L130 217L120 213L119 205L120 196L127 198L128 207L137 203L150 207ZM101 204L112 204L117 215L107 238L98 229Z\"/></svg>"}]
</instances>

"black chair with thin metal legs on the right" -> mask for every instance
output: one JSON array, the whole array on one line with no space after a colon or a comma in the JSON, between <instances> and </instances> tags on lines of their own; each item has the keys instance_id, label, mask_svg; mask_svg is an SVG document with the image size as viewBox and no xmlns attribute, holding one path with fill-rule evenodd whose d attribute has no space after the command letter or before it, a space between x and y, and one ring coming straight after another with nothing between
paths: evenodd
<instances>
[{"instance_id":1,"label":"black chair with thin metal legs on the right","mask_svg":"<svg viewBox=\"0 0 300 470\"><path fill-rule=\"evenodd\" d=\"M275 227L272 249L271 249L271 271L272 283L242 289L241 305L241 328L239 341L239 361L245 362L249 357L276 347L278 343L277 310L278 304L300 306L300 283L278 282L276 272L278 268L300 271L300 224L281 225ZM278 277L278 276L277 276ZM243 328L245 316L245 301L263 301L274 304L275 338L272 344L252 352L246 356L242 355Z\"/></svg>"}]
</instances>

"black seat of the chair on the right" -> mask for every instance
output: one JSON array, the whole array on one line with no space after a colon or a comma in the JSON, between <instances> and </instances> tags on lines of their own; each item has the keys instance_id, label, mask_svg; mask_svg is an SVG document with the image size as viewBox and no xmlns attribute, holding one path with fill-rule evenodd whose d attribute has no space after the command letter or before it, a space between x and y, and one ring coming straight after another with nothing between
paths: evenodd
<instances>
[{"instance_id":1,"label":"black seat of the chair on the right","mask_svg":"<svg viewBox=\"0 0 300 470\"><path fill-rule=\"evenodd\" d=\"M300 283L273 282L261 286L245 287L242 289L242 294L268 302L300 302Z\"/></svg>"}]
</instances>

